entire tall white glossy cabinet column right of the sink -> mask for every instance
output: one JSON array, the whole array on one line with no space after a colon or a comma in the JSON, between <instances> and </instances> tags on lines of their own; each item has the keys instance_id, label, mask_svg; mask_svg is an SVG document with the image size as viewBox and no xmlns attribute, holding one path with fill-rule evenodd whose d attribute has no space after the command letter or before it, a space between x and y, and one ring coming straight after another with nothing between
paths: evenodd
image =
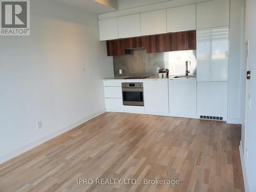
<instances>
[{"instance_id":1,"label":"entire tall white glossy cabinet column right of the sink","mask_svg":"<svg viewBox=\"0 0 256 192\"><path fill-rule=\"evenodd\" d=\"M197 4L198 115L227 119L228 55L229 0Z\"/></svg>"}]
</instances>

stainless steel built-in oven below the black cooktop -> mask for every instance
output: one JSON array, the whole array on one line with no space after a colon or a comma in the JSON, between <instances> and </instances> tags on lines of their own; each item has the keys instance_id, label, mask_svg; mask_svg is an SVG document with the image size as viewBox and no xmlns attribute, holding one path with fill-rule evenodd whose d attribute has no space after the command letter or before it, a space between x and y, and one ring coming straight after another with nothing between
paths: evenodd
<instances>
[{"instance_id":1,"label":"stainless steel built-in oven below the black cooktop","mask_svg":"<svg viewBox=\"0 0 256 192\"><path fill-rule=\"evenodd\" d=\"M123 105L144 106L143 83L122 83Z\"/></svg>"}]
</instances>

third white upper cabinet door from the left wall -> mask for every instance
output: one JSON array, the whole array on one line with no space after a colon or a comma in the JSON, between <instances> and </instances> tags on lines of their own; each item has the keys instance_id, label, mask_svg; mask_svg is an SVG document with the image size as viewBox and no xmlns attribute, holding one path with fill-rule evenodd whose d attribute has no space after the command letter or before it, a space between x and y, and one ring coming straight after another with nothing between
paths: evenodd
<instances>
[{"instance_id":1,"label":"third white upper cabinet door from the left wall","mask_svg":"<svg viewBox=\"0 0 256 192\"><path fill-rule=\"evenodd\" d=\"M140 14L141 35L166 33L166 9Z\"/></svg>"}]
</instances>

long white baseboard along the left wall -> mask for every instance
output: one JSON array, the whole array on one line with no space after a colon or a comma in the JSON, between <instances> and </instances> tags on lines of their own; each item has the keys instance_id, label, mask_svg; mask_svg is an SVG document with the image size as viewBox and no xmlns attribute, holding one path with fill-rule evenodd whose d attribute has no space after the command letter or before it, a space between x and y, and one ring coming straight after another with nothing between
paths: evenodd
<instances>
[{"instance_id":1,"label":"long white baseboard along the left wall","mask_svg":"<svg viewBox=\"0 0 256 192\"><path fill-rule=\"evenodd\" d=\"M57 130L57 131L55 131L53 133L50 133L47 136L44 136L44 137L42 137L40 139L32 141L29 144L26 144L26 145L24 145L22 147L19 147L16 150L14 150L14 151L12 151L12 152L10 152L8 154L2 155L2 156L0 156L0 164L4 163L4 162L6 162L6 161L8 161L8 160L10 160L10 159L20 155L20 154L23 154L23 153L31 150L32 148L34 148L34 147L36 147L36 146L38 146L38 145L40 145L40 144L42 144L42 143L44 143L46 141L49 141L50 139L52 139L54 137L57 137L57 136L65 133L67 131L70 131L70 130L74 129L75 127L79 126L80 124L85 123L85 122L87 122L87 121L89 121L89 120L91 120L91 119L93 119L93 118L95 118L95 117L105 113L105 112L106 112L105 110L101 110L101 111L98 111L96 113L93 113L93 114L91 114L91 115L89 115L87 117L84 117L83 119L80 119L80 120L78 120L78 121L76 121L76 122L74 122L74 123L72 123L72 124L70 124L70 125L68 125L66 127L63 127L60 130Z\"/></svg>"}]
</instances>

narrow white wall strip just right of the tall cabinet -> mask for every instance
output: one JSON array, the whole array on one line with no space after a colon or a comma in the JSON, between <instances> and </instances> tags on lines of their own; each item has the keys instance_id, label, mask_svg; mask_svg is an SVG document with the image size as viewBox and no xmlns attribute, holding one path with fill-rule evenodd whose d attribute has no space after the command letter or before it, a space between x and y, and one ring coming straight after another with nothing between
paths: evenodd
<instances>
[{"instance_id":1,"label":"narrow white wall strip just right of the tall cabinet","mask_svg":"<svg viewBox=\"0 0 256 192\"><path fill-rule=\"evenodd\" d=\"M231 123L241 123L239 103L240 71L244 61L244 6L245 0L230 0L227 121Z\"/></svg>"}]
</instances>

